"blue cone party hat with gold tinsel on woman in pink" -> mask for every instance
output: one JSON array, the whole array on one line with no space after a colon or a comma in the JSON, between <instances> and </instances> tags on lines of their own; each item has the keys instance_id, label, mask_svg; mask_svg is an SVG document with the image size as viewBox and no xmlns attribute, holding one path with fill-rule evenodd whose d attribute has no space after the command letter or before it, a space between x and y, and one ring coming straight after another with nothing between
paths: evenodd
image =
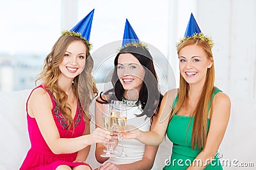
<instances>
[{"instance_id":1,"label":"blue cone party hat with gold tinsel on woman in pink","mask_svg":"<svg viewBox=\"0 0 256 170\"><path fill-rule=\"evenodd\" d=\"M89 48L92 47L92 44L89 43L90 33L92 29L92 19L93 19L94 9L88 13L80 22L78 22L70 31L63 31L62 34L65 36L77 36L85 43L88 44Z\"/></svg>"}]
</instances>

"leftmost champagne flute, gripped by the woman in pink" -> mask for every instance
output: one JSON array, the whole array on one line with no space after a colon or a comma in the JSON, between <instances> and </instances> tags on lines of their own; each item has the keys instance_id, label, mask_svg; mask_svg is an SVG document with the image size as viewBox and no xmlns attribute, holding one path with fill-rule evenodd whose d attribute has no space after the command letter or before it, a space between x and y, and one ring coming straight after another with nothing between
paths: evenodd
<instances>
[{"instance_id":1,"label":"leftmost champagne flute, gripped by the woman in pink","mask_svg":"<svg viewBox=\"0 0 256 170\"><path fill-rule=\"evenodd\" d=\"M111 131L113 127L113 118L110 115L110 110L109 110L109 104L102 104L102 122L104 125L104 128L107 129L108 131ZM115 154L111 153L109 150L109 139L107 141L107 150L103 150L104 154L101 154L101 157L114 157Z\"/></svg>"}]
</instances>

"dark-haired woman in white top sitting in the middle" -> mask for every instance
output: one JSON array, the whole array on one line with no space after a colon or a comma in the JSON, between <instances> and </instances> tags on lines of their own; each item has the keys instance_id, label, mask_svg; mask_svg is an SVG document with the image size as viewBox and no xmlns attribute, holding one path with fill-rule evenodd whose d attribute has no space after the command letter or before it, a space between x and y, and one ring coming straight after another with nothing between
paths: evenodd
<instances>
[{"instance_id":1,"label":"dark-haired woman in white top sitting in the middle","mask_svg":"<svg viewBox=\"0 0 256 170\"><path fill-rule=\"evenodd\" d=\"M102 104L115 99L124 101L127 105L127 124L134 125L141 131L150 131L156 122L163 96L159 92L152 56L147 48L134 44L124 46L115 57L111 81L114 88L100 95L95 103L96 127L102 125ZM119 142L114 148L118 152L122 150ZM98 162L105 162L99 169L157 169L154 163L157 148L135 139L124 139L127 157L100 157L106 149L100 143L96 146L95 157Z\"/></svg>"}]
</instances>

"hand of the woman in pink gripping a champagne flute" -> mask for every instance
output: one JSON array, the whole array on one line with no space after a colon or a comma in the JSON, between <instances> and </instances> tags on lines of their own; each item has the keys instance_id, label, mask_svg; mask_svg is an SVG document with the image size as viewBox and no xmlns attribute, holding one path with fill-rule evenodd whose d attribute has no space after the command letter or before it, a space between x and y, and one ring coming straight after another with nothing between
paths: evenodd
<instances>
[{"instance_id":1,"label":"hand of the woman in pink gripping a champagne flute","mask_svg":"<svg viewBox=\"0 0 256 170\"><path fill-rule=\"evenodd\" d=\"M108 139L111 139L111 132L107 131L105 129L102 129L100 127L97 127L92 134L90 134L90 141L91 144L95 144L95 143L103 143L106 144Z\"/></svg>"}]
</instances>

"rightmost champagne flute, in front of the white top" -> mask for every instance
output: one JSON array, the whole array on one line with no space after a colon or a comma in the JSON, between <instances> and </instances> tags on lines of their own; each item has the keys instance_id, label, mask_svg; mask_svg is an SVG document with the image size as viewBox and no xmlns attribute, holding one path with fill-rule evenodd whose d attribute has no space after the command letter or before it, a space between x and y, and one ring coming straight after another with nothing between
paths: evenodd
<instances>
[{"instance_id":1,"label":"rightmost champagne flute, in front of the white top","mask_svg":"<svg viewBox=\"0 0 256 170\"><path fill-rule=\"evenodd\" d=\"M121 147L122 153L118 157L127 157L124 152L124 145L123 145L123 132L125 130L125 126L127 124L127 109L126 104L122 101L111 101L111 117L113 117L113 126L117 129L118 132L122 132L121 136Z\"/></svg>"}]
</instances>

